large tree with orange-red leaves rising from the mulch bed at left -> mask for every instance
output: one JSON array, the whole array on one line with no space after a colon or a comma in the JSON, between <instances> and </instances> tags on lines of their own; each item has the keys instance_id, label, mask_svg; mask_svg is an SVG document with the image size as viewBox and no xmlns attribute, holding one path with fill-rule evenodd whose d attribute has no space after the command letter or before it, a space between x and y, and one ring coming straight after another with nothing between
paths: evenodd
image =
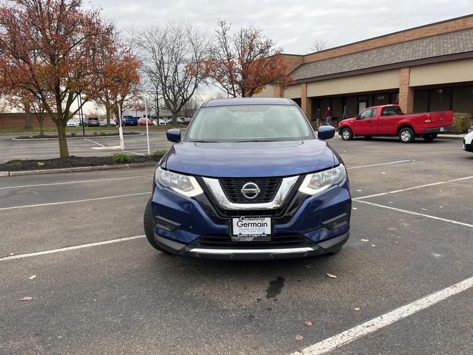
<instances>
[{"instance_id":1,"label":"large tree with orange-red leaves rising from the mulch bed at left","mask_svg":"<svg viewBox=\"0 0 473 355\"><path fill-rule=\"evenodd\" d=\"M81 0L12 0L0 6L0 86L28 91L57 126L61 158L69 157L65 126L102 89L103 49L116 50L113 28ZM43 93L48 93L44 95ZM49 94L52 97L51 103Z\"/></svg>"}]
</instances>

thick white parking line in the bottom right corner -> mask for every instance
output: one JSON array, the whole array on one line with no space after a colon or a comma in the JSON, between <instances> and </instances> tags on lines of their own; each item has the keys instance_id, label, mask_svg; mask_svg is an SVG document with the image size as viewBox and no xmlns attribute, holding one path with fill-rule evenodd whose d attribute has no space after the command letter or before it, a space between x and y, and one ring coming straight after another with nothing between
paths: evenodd
<instances>
[{"instance_id":1,"label":"thick white parking line in the bottom right corner","mask_svg":"<svg viewBox=\"0 0 473 355\"><path fill-rule=\"evenodd\" d=\"M346 345L353 340L364 337L378 329L397 322L403 318L409 317L419 310L430 307L448 297L452 297L462 291L468 290L473 286L473 277L446 287L431 295L425 296L417 301L409 303L405 306L394 309L393 311L382 316L373 318L365 323L359 324L351 329L345 330L340 334L322 340L316 344L310 345L301 351L292 353L291 355L319 355L334 350L342 345Z\"/></svg>"}]
</instances>

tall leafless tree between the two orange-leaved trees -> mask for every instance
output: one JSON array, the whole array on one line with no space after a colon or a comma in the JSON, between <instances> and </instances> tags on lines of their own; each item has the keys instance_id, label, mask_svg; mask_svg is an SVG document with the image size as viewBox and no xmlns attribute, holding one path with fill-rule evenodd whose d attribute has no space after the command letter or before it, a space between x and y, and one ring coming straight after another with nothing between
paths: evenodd
<instances>
[{"instance_id":1,"label":"tall leafless tree between the two orange-leaved trees","mask_svg":"<svg viewBox=\"0 0 473 355\"><path fill-rule=\"evenodd\" d=\"M177 123L179 111L207 77L209 36L190 24L168 23L145 30L140 45L145 67Z\"/></svg>"}]
</instances>

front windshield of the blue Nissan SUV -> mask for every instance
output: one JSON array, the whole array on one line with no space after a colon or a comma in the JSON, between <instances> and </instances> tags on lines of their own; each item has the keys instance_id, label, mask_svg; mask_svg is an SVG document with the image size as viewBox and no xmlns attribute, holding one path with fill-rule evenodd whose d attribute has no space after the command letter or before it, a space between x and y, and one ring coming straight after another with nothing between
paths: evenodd
<instances>
[{"instance_id":1,"label":"front windshield of the blue Nissan SUV","mask_svg":"<svg viewBox=\"0 0 473 355\"><path fill-rule=\"evenodd\" d=\"M298 107L235 105L199 109L186 134L188 142L294 141L313 139Z\"/></svg>"}]
</instances>

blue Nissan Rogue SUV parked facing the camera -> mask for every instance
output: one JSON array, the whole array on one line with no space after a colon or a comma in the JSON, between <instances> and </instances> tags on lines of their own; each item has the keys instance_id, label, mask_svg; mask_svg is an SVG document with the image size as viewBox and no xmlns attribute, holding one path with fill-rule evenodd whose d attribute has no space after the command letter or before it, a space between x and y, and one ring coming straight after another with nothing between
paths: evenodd
<instances>
[{"instance_id":1,"label":"blue Nissan Rogue SUV parked facing the camera","mask_svg":"<svg viewBox=\"0 0 473 355\"><path fill-rule=\"evenodd\" d=\"M335 254L347 241L351 197L342 158L294 101L208 101L163 156L144 216L157 250L218 259Z\"/></svg>"}]
</instances>

